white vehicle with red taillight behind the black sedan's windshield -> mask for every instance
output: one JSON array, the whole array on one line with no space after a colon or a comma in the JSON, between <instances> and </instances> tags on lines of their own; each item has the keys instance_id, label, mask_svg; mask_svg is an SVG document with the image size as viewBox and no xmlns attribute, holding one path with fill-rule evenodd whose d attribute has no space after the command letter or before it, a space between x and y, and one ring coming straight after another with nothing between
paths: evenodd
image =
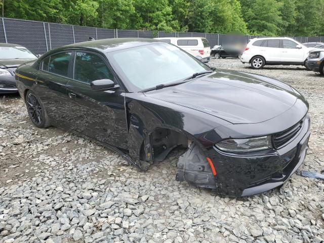
<instances>
[{"instance_id":1,"label":"white vehicle with red taillight behind the black sedan's windshield","mask_svg":"<svg viewBox=\"0 0 324 243\"><path fill-rule=\"evenodd\" d=\"M204 37L163 37L155 39L171 43L194 57L201 57L203 62L210 60L211 46Z\"/></svg>"}]
</instances>

